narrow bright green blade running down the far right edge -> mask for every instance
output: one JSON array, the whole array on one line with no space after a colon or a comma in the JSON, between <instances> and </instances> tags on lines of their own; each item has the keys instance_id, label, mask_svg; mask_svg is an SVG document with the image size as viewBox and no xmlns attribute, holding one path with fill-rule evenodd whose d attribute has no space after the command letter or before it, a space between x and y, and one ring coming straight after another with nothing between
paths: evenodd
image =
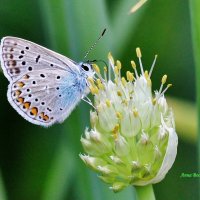
<instances>
[{"instance_id":1,"label":"narrow bright green blade running down the far right edge","mask_svg":"<svg viewBox=\"0 0 200 200\"><path fill-rule=\"evenodd\" d=\"M193 49L194 49L194 60L196 66L196 95L197 95L197 112L198 112L198 161L200 171L200 1L190 1L190 12L191 12L191 25L192 25L192 37L193 37ZM199 181L200 188L200 181Z\"/></svg>"}]
</instances>

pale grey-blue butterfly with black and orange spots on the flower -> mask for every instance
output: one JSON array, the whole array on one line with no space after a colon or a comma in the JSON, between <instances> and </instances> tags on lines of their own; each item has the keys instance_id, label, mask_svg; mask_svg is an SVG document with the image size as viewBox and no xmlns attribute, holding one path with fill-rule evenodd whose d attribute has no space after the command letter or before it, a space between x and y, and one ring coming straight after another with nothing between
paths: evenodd
<instances>
[{"instance_id":1,"label":"pale grey-blue butterfly with black and orange spots on the flower","mask_svg":"<svg viewBox=\"0 0 200 200\"><path fill-rule=\"evenodd\" d=\"M88 94L89 63L76 63L15 37L1 40L1 66L10 81L7 97L26 120L42 126L62 122Z\"/></svg>"}]
</instances>

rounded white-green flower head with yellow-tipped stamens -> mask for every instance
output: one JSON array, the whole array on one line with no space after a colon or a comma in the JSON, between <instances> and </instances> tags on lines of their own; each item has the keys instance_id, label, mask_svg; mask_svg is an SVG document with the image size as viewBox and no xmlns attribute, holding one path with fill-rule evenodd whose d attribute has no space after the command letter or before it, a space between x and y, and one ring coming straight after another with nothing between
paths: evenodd
<instances>
[{"instance_id":1,"label":"rounded white-green flower head with yellow-tipped stamens","mask_svg":"<svg viewBox=\"0 0 200 200\"><path fill-rule=\"evenodd\" d=\"M136 53L140 74L131 61L132 71L122 77L120 61L115 62L109 54L104 75L94 65L98 78L88 80L95 110L90 113L92 128L81 138L86 154L80 157L113 191L161 181L177 153L173 112L164 97L171 84L164 87L164 75L160 89L152 94L157 56L148 72L143 69L139 48Z\"/></svg>"}]
</instances>

